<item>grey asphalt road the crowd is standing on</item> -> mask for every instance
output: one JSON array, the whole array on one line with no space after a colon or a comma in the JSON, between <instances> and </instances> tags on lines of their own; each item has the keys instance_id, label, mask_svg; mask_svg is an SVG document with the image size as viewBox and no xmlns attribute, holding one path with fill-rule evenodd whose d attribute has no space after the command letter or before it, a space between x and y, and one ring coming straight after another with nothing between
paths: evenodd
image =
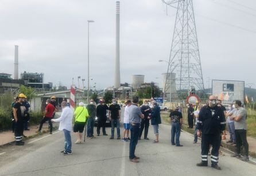
<instances>
[{"instance_id":1,"label":"grey asphalt road the crowd is standing on","mask_svg":"<svg viewBox=\"0 0 256 176\"><path fill-rule=\"evenodd\" d=\"M121 131L123 128L121 129ZM95 129L96 132L96 129ZM256 166L231 158L225 153L220 156L222 170L196 167L200 162L200 143L193 145L191 134L181 133L184 147L170 145L170 126L160 126L160 142L152 143L153 129L150 126L149 141L138 142L135 155L139 163L129 162L129 142L108 136L86 139L73 144L72 155L64 156L63 132L42 135L26 141L25 146L7 146L0 149L0 175L255 175ZM116 134L116 131L115 131ZM72 142L75 142L72 133ZM210 159L209 159L210 161ZM210 163L210 162L209 162Z\"/></svg>"}]
</instances>

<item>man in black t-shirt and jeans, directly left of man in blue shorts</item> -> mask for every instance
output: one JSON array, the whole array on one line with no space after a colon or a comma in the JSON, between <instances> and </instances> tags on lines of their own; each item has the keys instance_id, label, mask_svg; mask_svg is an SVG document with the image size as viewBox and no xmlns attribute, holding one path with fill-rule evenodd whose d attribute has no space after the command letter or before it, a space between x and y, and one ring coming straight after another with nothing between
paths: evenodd
<instances>
[{"instance_id":1,"label":"man in black t-shirt and jeans, directly left of man in blue shorts","mask_svg":"<svg viewBox=\"0 0 256 176\"><path fill-rule=\"evenodd\" d=\"M111 121L111 138L110 139L114 139L115 124L117 124L117 139L121 139L120 137L121 108L117 104L117 101L115 99L113 100L113 104L109 106L108 115Z\"/></svg>"}]
</instances>

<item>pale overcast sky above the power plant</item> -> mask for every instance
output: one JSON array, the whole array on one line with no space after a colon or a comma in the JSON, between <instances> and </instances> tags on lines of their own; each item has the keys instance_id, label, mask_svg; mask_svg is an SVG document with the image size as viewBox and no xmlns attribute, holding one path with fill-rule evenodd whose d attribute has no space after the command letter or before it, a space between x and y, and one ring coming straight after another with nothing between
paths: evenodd
<instances>
[{"instance_id":1,"label":"pale overcast sky above the power plant","mask_svg":"<svg viewBox=\"0 0 256 176\"><path fill-rule=\"evenodd\" d=\"M166 0L167 1L167 0ZM204 87L211 79L255 83L256 1L193 0ZM45 82L69 87L90 77L96 89L114 85L115 0L1 0L0 73L44 73ZM162 87L176 9L161 0L121 0L121 82L145 75ZM81 84L81 83L80 83Z\"/></svg>"}]
</instances>

